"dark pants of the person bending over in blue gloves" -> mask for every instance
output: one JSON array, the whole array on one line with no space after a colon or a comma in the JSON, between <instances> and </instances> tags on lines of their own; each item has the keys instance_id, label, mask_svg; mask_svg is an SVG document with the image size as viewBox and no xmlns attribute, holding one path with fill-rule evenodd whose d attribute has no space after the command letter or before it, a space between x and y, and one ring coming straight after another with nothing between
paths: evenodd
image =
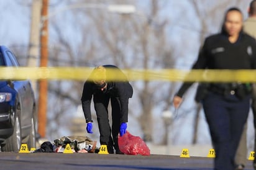
<instances>
[{"instance_id":1,"label":"dark pants of the person bending over in blue gloves","mask_svg":"<svg viewBox=\"0 0 256 170\"><path fill-rule=\"evenodd\" d=\"M111 99L112 108L112 128L109 125L107 110L109 99ZM109 153L114 153L113 146L116 150L119 150L118 133L121 125L121 105L119 99L117 97L110 97L108 94L94 94L93 101L99 126L99 141L101 145L107 145Z\"/></svg>"}]
</instances>

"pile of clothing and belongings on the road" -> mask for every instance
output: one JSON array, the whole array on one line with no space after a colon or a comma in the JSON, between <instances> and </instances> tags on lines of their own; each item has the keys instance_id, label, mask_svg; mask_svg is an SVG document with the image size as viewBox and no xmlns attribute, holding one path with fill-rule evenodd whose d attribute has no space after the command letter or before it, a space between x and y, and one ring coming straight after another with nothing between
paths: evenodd
<instances>
[{"instance_id":1,"label":"pile of clothing and belongings on the road","mask_svg":"<svg viewBox=\"0 0 256 170\"><path fill-rule=\"evenodd\" d=\"M40 148L34 153L63 153L66 145L70 145L73 153L98 153L99 148L96 148L97 141L93 141L88 136L63 136L54 140L54 143L45 141L40 145Z\"/></svg>"}]
</instances>

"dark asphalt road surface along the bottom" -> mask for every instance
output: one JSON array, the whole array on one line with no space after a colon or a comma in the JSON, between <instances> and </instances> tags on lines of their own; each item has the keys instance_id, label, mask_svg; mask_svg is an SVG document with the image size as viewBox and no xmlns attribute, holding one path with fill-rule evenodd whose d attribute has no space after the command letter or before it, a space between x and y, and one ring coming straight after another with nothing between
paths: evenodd
<instances>
[{"instance_id":1,"label":"dark asphalt road surface along the bottom","mask_svg":"<svg viewBox=\"0 0 256 170\"><path fill-rule=\"evenodd\" d=\"M152 154L0 153L0 169L213 169L213 158ZM246 169L252 168L252 161Z\"/></svg>"}]
</instances>

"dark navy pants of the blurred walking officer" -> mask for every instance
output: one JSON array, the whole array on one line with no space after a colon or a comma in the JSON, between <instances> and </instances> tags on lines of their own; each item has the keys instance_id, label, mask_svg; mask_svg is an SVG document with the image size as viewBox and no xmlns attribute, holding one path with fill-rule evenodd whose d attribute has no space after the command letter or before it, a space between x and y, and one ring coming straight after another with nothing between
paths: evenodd
<instances>
[{"instance_id":1,"label":"dark navy pants of the blurred walking officer","mask_svg":"<svg viewBox=\"0 0 256 170\"><path fill-rule=\"evenodd\" d=\"M234 170L234 157L250 108L250 96L238 99L210 93L203 101L213 147L214 169Z\"/></svg>"}]
</instances>

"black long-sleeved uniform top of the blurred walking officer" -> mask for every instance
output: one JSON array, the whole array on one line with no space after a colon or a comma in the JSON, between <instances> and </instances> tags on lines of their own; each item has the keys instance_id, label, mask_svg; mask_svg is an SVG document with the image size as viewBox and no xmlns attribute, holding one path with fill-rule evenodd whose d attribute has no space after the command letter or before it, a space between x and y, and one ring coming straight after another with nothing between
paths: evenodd
<instances>
[{"instance_id":1,"label":"black long-sleeved uniform top of the blurred walking officer","mask_svg":"<svg viewBox=\"0 0 256 170\"><path fill-rule=\"evenodd\" d=\"M192 69L256 69L255 39L240 33L237 42L231 43L225 34L211 35ZM183 83L176 95L182 97L192 84Z\"/></svg>"}]
</instances>

